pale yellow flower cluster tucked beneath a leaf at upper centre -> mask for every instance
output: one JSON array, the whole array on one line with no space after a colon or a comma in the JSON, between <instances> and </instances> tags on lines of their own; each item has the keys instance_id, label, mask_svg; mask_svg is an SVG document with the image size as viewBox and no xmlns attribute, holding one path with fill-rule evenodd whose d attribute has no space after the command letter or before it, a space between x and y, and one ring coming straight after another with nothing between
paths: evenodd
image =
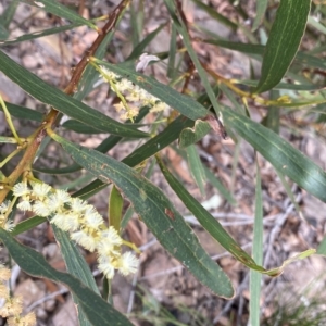
<instances>
[{"instance_id":1,"label":"pale yellow flower cluster tucked beneath a leaf at upper centre","mask_svg":"<svg viewBox=\"0 0 326 326\"><path fill-rule=\"evenodd\" d=\"M114 104L117 112L121 112L121 120L134 120L139 113L139 108L150 106L150 112L161 112L167 105L156 97L152 96L130 80L110 72L104 66L99 66L99 71L104 80L109 82L112 90L118 96L121 102ZM128 101L128 103L127 103Z\"/></svg>"}]
</instances>

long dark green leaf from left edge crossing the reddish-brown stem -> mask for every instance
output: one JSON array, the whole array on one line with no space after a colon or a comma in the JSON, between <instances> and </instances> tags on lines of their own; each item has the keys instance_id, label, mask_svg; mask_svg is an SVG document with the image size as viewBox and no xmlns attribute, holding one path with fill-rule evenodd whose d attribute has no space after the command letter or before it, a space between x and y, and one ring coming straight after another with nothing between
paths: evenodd
<instances>
[{"instance_id":1,"label":"long dark green leaf from left edge crossing the reddish-brown stem","mask_svg":"<svg viewBox=\"0 0 326 326\"><path fill-rule=\"evenodd\" d=\"M148 136L146 133L139 131L133 126L123 125L48 85L1 51L0 63L0 71L26 92L77 121L103 133L135 138Z\"/></svg>"}]
</instances>

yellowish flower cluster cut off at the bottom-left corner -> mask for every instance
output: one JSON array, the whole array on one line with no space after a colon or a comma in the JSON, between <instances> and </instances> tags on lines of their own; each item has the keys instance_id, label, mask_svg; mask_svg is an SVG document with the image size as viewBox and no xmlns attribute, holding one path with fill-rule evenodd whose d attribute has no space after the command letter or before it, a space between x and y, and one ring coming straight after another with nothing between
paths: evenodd
<instances>
[{"instance_id":1,"label":"yellowish flower cluster cut off at the bottom-left corner","mask_svg":"<svg viewBox=\"0 0 326 326\"><path fill-rule=\"evenodd\" d=\"M33 312L21 316L23 311L22 298L11 297L5 283L10 279L10 269L0 265L0 316L8 318L9 326L34 326L36 317Z\"/></svg>"}]
</instances>

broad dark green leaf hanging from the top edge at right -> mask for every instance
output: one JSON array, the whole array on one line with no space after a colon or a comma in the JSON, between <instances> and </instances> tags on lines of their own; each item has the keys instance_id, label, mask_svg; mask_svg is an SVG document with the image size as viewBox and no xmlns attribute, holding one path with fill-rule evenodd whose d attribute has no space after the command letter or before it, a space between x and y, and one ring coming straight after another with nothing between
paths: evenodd
<instances>
[{"instance_id":1,"label":"broad dark green leaf hanging from the top edge at right","mask_svg":"<svg viewBox=\"0 0 326 326\"><path fill-rule=\"evenodd\" d=\"M304 34L311 0L281 0L266 45L262 76L254 92L277 85L288 71Z\"/></svg>"}]
</instances>

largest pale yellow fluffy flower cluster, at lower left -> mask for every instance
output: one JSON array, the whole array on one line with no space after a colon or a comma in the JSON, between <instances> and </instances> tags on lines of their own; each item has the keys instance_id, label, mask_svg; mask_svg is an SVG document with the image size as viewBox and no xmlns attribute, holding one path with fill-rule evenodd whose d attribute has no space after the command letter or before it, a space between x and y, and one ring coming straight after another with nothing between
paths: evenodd
<instances>
[{"instance_id":1,"label":"largest pale yellow fluffy flower cluster, at lower left","mask_svg":"<svg viewBox=\"0 0 326 326\"><path fill-rule=\"evenodd\" d=\"M13 195L21 198L17 209L33 211L35 214L49 217L71 238L85 249L98 253L99 269L113 278L115 269L126 276L137 271L138 259L131 252L122 253L126 242L113 226L105 226L103 217L93 205L79 198L72 198L66 191L53 189L42 183L16 184Z\"/></svg>"}]
</instances>

